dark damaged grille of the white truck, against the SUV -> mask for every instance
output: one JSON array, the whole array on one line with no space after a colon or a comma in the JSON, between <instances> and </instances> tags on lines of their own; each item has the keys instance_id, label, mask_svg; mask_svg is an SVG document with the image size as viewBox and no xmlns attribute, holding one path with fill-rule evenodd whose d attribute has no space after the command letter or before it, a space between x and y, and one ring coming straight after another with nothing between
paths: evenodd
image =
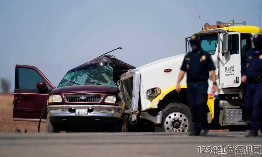
<instances>
[{"instance_id":1,"label":"dark damaged grille of the white truck, against the SUV","mask_svg":"<svg viewBox=\"0 0 262 157\"><path fill-rule=\"evenodd\" d=\"M125 110L131 108L132 91L133 91L133 77L121 80L121 92L125 95Z\"/></svg>"}]
</instances>

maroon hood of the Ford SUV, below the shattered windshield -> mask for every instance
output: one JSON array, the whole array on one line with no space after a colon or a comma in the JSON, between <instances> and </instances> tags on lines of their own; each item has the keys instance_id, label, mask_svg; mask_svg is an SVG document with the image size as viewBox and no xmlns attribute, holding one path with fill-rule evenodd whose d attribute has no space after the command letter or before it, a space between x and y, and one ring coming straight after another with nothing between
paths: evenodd
<instances>
[{"instance_id":1,"label":"maroon hood of the Ford SUV, below the shattered windshield","mask_svg":"<svg viewBox=\"0 0 262 157\"><path fill-rule=\"evenodd\" d=\"M109 85L72 85L59 87L52 90L51 94L73 93L73 92L94 92L94 93L116 93L117 87Z\"/></svg>"}]
</instances>

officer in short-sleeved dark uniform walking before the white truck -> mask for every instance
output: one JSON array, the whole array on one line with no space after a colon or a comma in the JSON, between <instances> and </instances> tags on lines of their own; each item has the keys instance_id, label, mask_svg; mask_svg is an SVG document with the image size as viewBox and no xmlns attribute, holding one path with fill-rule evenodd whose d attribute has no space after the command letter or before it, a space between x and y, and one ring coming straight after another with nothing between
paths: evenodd
<instances>
[{"instance_id":1,"label":"officer in short-sleeved dark uniform walking before the white truck","mask_svg":"<svg viewBox=\"0 0 262 157\"><path fill-rule=\"evenodd\" d=\"M208 52L202 50L200 39L192 35L190 39L192 52L185 55L180 68L176 91L180 92L180 82L187 72L187 99L193 118L193 131L189 135L206 135L208 132L206 102L209 71L213 80L213 89L219 91L216 85L216 74L213 59Z\"/></svg>"}]
</instances>

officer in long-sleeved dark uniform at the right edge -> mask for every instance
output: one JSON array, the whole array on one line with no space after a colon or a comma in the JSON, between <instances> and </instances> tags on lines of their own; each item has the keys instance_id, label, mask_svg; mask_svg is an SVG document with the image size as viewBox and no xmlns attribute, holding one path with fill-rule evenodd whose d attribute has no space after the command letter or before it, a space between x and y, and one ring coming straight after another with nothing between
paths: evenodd
<instances>
[{"instance_id":1,"label":"officer in long-sleeved dark uniform at the right edge","mask_svg":"<svg viewBox=\"0 0 262 157\"><path fill-rule=\"evenodd\" d=\"M247 137L258 136L262 119L262 36L254 35L253 44L254 48L247 51L245 61L241 65L241 82L247 83L245 105L249 112L252 111Z\"/></svg>"}]
</instances>

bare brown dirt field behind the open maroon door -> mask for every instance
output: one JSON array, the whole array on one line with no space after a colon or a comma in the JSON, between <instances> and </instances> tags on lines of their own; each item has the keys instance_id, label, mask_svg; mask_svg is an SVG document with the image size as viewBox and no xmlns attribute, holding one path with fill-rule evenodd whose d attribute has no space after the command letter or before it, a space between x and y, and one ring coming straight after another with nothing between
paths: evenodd
<instances>
[{"instance_id":1,"label":"bare brown dirt field behind the open maroon door","mask_svg":"<svg viewBox=\"0 0 262 157\"><path fill-rule=\"evenodd\" d=\"M13 121L13 94L0 94L0 133L15 132L15 127L24 132L37 132L38 122ZM40 132L46 132L45 123L40 125Z\"/></svg>"}]
</instances>

